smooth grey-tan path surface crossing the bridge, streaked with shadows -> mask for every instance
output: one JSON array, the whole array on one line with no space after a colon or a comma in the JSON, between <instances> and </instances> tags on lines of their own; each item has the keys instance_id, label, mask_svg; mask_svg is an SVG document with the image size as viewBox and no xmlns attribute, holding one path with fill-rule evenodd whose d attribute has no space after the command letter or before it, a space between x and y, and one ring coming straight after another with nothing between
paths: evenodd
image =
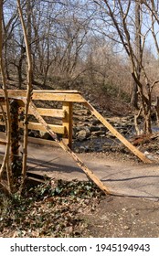
<instances>
[{"instance_id":1,"label":"smooth grey-tan path surface crossing the bridge, streaked with shadows","mask_svg":"<svg viewBox=\"0 0 159 256\"><path fill-rule=\"evenodd\" d=\"M1 155L4 150L5 146L0 145ZM159 165L120 163L95 154L81 154L80 158L114 194L159 198ZM87 180L83 171L58 146L29 144L28 166L30 172L40 175Z\"/></svg>"}]
</instances>

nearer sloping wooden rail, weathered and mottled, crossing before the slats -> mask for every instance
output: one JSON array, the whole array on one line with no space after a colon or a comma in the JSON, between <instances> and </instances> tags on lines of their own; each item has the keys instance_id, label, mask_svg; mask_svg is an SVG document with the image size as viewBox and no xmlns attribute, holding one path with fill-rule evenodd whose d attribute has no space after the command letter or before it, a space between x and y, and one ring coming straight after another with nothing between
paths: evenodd
<instances>
[{"instance_id":1,"label":"nearer sloping wooden rail, weathered and mottled, crossing before the slats","mask_svg":"<svg viewBox=\"0 0 159 256\"><path fill-rule=\"evenodd\" d=\"M101 182L101 180L94 175L94 173L86 166L84 165L84 163L80 160L79 156L76 155L74 152L71 151L71 149L69 148L69 146L67 144L65 144L63 141L59 141L58 140L58 136L56 133L54 133L51 128L49 127L48 123L45 122L45 120L42 118L42 116L37 112L37 108L35 106L35 104L31 101L30 102L30 108L34 114L34 116L36 116L37 121L43 125L44 129L46 130L46 132L48 132L50 134L50 136L58 143L58 145L66 152L68 153L77 163L77 165L80 166L80 168L84 171L84 173L90 177L90 179L98 186L101 188L101 190L105 193L105 194L111 194L111 191L109 190L108 187L104 186L104 184Z\"/></svg>"}]
</instances>

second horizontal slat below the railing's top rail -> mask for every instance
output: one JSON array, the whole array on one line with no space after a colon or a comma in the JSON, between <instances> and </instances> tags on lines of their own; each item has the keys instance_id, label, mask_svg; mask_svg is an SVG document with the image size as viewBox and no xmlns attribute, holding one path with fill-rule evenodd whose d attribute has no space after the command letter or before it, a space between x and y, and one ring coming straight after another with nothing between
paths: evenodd
<instances>
[{"instance_id":1,"label":"second horizontal slat below the railing's top rail","mask_svg":"<svg viewBox=\"0 0 159 256\"><path fill-rule=\"evenodd\" d=\"M19 127L23 128L24 124L23 122L19 122ZM65 133L65 127L62 125L54 125L54 124L49 124L49 127L54 133L59 133L59 134L64 134ZM43 125L41 123L28 123L28 129L29 130L37 130L37 131L42 131L46 132L44 129Z\"/></svg>"}]
</instances>

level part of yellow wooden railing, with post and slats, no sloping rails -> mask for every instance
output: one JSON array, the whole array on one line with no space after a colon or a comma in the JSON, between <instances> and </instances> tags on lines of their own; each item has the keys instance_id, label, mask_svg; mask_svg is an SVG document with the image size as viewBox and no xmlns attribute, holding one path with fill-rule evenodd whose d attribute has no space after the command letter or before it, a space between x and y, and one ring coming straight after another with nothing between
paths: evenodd
<instances>
[{"instance_id":1,"label":"level part of yellow wooden railing, with post and slats, no sloping rails","mask_svg":"<svg viewBox=\"0 0 159 256\"><path fill-rule=\"evenodd\" d=\"M10 90L8 91L8 97L12 100L18 101L19 115L22 115L25 106L24 102L20 101L22 97L26 97L26 91ZM4 92L0 90L1 105L5 111ZM54 133L62 134L63 140L69 147L72 147L72 103L73 102L85 102L80 95L80 91L33 91L32 100L36 101L61 101L61 109L52 108L37 108L37 112L43 117L58 118L61 124L48 123ZM31 115L31 112L29 111ZM3 114L0 111L0 125L5 125L3 120ZM23 121L19 121L19 128L23 128ZM29 130L36 130L45 132L45 129L41 123L29 122ZM0 143L4 144L4 139L0 139Z\"/></svg>"}]
</instances>

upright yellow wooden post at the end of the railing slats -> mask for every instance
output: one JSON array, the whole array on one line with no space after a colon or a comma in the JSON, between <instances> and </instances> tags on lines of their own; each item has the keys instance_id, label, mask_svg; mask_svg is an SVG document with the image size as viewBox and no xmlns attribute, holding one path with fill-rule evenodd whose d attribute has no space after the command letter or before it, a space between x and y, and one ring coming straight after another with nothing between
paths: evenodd
<instances>
[{"instance_id":1,"label":"upright yellow wooden post at the end of the railing slats","mask_svg":"<svg viewBox=\"0 0 159 256\"><path fill-rule=\"evenodd\" d=\"M63 141L72 148L72 102L63 101L63 111L65 117L62 119L62 124L65 127Z\"/></svg>"}]
</instances>

